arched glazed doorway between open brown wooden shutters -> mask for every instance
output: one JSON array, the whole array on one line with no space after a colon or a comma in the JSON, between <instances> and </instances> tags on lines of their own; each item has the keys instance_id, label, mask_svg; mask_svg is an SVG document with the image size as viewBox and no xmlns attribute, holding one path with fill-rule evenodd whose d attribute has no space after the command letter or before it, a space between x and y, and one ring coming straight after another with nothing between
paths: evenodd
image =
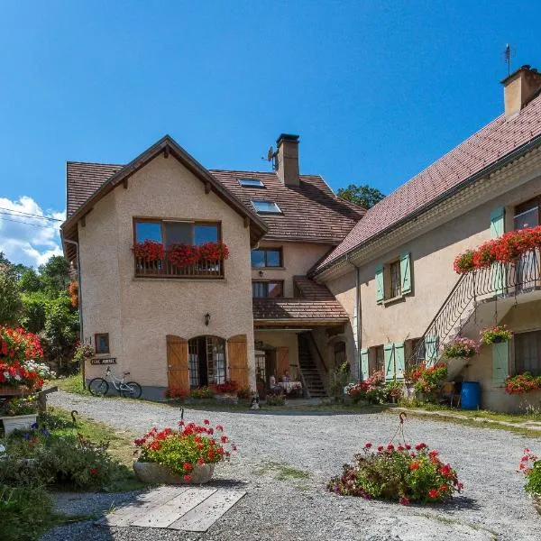
<instances>
[{"instance_id":1,"label":"arched glazed doorway between open brown wooden shutters","mask_svg":"<svg viewBox=\"0 0 541 541\"><path fill-rule=\"evenodd\" d=\"M188 340L188 371L190 387L225 383L224 338L203 335Z\"/></svg>"}]
</instances>

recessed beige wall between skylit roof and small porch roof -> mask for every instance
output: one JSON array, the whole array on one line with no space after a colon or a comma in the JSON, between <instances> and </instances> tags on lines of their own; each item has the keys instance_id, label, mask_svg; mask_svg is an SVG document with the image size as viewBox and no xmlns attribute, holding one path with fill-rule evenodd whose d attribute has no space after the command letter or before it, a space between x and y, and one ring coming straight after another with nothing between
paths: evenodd
<instances>
[{"instance_id":1,"label":"recessed beige wall between skylit roof and small porch roof","mask_svg":"<svg viewBox=\"0 0 541 541\"><path fill-rule=\"evenodd\" d=\"M307 274L331 249L330 244L261 242L260 248L282 248L283 268L254 268L252 280L284 280L284 297L293 297L293 277ZM262 272L262 276L260 276Z\"/></svg>"}]
</instances>

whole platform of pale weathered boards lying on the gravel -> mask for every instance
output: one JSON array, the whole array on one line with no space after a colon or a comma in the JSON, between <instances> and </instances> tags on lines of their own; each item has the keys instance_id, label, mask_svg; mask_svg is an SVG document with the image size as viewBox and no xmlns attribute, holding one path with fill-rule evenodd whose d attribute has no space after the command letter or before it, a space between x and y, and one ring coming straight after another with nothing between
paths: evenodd
<instances>
[{"instance_id":1,"label":"whole platform of pale weathered boards lying on the gravel","mask_svg":"<svg viewBox=\"0 0 541 541\"><path fill-rule=\"evenodd\" d=\"M164 486L141 494L132 503L96 520L96 525L205 532L244 494L227 489Z\"/></svg>"}]
</instances>

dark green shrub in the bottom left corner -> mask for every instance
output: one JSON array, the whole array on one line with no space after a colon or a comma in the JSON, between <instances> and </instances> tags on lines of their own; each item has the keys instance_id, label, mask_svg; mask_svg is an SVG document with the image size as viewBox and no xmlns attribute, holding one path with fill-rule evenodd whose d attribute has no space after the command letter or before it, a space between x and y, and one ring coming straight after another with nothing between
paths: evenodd
<instances>
[{"instance_id":1,"label":"dark green shrub in the bottom left corner","mask_svg":"<svg viewBox=\"0 0 541 541\"><path fill-rule=\"evenodd\" d=\"M40 487L0 484L0 530L2 541L32 541L51 526L53 501Z\"/></svg>"}]
</instances>

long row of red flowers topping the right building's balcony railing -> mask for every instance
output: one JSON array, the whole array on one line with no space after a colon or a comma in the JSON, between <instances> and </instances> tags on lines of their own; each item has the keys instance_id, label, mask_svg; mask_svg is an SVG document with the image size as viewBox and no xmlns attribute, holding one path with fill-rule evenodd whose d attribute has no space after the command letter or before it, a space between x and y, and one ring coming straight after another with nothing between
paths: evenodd
<instances>
[{"instance_id":1,"label":"long row of red flowers topping the right building's balcony railing","mask_svg":"<svg viewBox=\"0 0 541 541\"><path fill-rule=\"evenodd\" d=\"M521 256L541 248L541 225L509 231L496 239L482 243L476 250L467 250L454 259L458 274L486 269L495 262L514 263Z\"/></svg>"}]
</instances>

